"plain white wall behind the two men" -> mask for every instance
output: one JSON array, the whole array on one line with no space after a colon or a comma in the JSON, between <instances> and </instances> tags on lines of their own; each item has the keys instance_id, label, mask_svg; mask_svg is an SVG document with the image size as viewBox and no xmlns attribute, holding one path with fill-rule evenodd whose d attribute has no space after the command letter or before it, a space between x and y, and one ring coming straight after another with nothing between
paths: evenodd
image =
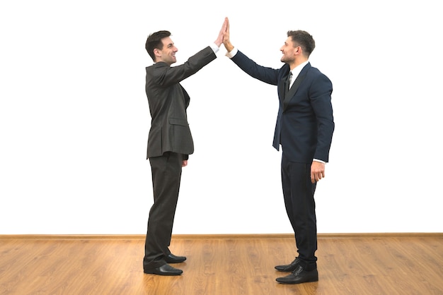
<instances>
[{"instance_id":1,"label":"plain white wall behind the two men","mask_svg":"<svg viewBox=\"0 0 443 295\"><path fill-rule=\"evenodd\" d=\"M320 233L442 232L437 1L237 2L1 1L0 234L144 234L144 42L170 30L182 64L225 16L233 44L265 66L282 65L287 30L316 40L311 64L333 81L336 124ZM225 52L183 81L196 148L173 233L290 233L276 89Z\"/></svg>"}]
</instances>

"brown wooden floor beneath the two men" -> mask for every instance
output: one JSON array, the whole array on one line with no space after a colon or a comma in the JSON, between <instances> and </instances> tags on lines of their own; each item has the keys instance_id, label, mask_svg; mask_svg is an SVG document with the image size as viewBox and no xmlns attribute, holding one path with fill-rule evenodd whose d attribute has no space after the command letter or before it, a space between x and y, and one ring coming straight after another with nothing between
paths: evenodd
<instances>
[{"instance_id":1,"label":"brown wooden floor beneath the two men","mask_svg":"<svg viewBox=\"0 0 443 295\"><path fill-rule=\"evenodd\" d=\"M291 235L173 236L177 277L144 275L144 236L0 236L0 294L443 294L443 234L319 235L314 283L274 270Z\"/></svg>"}]
</instances>

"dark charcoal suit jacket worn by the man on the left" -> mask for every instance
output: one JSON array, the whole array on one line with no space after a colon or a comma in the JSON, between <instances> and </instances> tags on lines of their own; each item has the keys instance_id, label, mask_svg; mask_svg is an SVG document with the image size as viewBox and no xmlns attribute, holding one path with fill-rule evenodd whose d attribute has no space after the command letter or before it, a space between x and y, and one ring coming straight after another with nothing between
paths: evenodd
<instances>
[{"instance_id":1,"label":"dark charcoal suit jacket worn by the man on the left","mask_svg":"<svg viewBox=\"0 0 443 295\"><path fill-rule=\"evenodd\" d=\"M163 152L183 155L194 152L186 114L190 97L179 82L216 58L211 47L206 47L180 66L158 62L146 67L146 95L151 113L146 158L159 157Z\"/></svg>"}]
</instances>

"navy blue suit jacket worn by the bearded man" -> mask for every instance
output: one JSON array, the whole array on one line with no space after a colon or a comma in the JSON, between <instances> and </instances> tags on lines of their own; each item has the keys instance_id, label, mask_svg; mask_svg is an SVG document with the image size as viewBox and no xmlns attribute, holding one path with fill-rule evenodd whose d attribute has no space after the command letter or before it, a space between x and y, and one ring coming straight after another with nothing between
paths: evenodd
<instances>
[{"instance_id":1,"label":"navy blue suit jacket worn by the bearded man","mask_svg":"<svg viewBox=\"0 0 443 295\"><path fill-rule=\"evenodd\" d=\"M310 63L301 70L292 88L288 87L289 65L267 68L238 51L231 59L248 75L271 85L277 85L280 107L273 146L292 162L311 163L313 159L329 160L334 131L331 104L332 83ZM298 85L298 87L297 87Z\"/></svg>"}]
</instances>

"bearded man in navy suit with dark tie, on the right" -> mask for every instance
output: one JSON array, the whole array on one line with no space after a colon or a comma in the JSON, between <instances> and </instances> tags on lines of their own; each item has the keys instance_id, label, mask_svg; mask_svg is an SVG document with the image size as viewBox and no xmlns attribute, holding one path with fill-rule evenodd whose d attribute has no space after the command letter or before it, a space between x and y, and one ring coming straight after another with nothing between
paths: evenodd
<instances>
[{"instance_id":1,"label":"bearded man in navy suit with dark tie, on the right","mask_svg":"<svg viewBox=\"0 0 443 295\"><path fill-rule=\"evenodd\" d=\"M280 107L273 146L282 146L282 188L284 205L294 229L298 256L287 265L277 265L282 284L317 282L317 227L314 192L325 176L334 121L331 104L332 83L313 68L309 56L315 48L313 37L303 30L287 32L280 48L281 68L260 66L238 51L229 39L229 23L224 36L226 54L248 75L277 85Z\"/></svg>"}]
</instances>

